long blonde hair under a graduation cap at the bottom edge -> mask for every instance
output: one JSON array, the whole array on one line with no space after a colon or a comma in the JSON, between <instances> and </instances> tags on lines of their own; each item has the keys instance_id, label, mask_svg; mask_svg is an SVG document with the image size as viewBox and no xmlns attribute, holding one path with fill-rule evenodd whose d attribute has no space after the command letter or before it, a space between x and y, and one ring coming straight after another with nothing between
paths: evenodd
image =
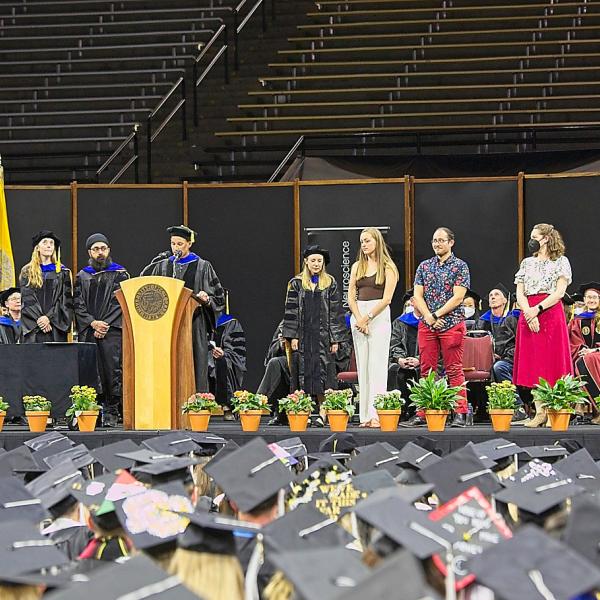
<instances>
[{"instance_id":1,"label":"long blonde hair under a graduation cap at the bottom edge","mask_svg":"<svg viewBox=\"0 0 600 600\"><path fill-rule=\"evenodd\" d=\"M236 556L177 548L168 571L206 600L244 600L244 574Z\"/></svg>"}]
</instances>

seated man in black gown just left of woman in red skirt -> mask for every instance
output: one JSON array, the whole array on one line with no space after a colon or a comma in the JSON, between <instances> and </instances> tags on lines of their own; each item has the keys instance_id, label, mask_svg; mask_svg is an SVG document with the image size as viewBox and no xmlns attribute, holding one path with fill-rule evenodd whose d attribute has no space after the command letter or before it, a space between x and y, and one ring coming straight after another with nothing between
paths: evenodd
<instances>
[{"instance_id":1,"label":"seated man in black gown just left of woman in red skirt","mask_svg":"<svg viewBox=\"0 0 600 600\"><path fill-rule=\"evenodd\" d=\"M502 283L498 283L488 294L489 310L483 313L475 329L489 331L494 338L494 381L512 381L515 355L515 339L520 311L510 310L510 292ZM521 398L517 395L519 408L514 421L523 421L527 414Z\"/></svg>"}]
</instances>

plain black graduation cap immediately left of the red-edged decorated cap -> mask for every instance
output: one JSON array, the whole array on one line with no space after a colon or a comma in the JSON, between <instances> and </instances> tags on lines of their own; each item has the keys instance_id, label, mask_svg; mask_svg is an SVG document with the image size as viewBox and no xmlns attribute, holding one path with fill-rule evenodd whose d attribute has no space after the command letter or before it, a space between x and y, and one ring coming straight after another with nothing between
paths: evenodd
<instances>
[{"instance_id":1,"label":"plain black graduation cap immediately left of the red-edged decorated cap","mask_svg":"<svg viewBox=\"0 0 600 600\"><path fill-rule=\"evenodd\" d=\"M427 513L391 494L380 495L382 497L377 500L357 504L354 508L356 516L408 548L418 558L443 552L454 541L443 527L427 518Z\"/></svg>"}]
</instances>

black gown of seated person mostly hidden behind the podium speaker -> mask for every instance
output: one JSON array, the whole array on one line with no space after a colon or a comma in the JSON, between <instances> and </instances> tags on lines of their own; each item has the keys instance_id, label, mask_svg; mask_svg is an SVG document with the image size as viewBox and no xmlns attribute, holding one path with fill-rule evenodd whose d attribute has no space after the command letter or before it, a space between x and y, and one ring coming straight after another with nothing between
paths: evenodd
<instances>
[{"instance_id":1,"label":"black gown of seated person mostly hidden behind the podium speaker","mask_svg":"<svg viewBox=\"0 0 600 600\"><path fill-rule=\"evenodd\" d=\"M213 334L213 341L224 355L215 359L208 357L211 388L221 406L229 406L233 392L241 390L246 372L246 336L240 322L231 317L220 319Z\"/></svg>"}]
</instances>

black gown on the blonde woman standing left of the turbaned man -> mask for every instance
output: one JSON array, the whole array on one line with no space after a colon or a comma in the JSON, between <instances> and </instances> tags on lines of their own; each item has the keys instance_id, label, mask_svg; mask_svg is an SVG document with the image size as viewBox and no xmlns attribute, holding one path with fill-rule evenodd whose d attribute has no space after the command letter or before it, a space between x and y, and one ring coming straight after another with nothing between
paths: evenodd
<instances>
[{"instance_id":1,"label":"black gown on the blonde woman standing left of the turbaned man","mask_svg":"<svg viewBox=\"0 0 600 600\"><path fill-rule=\"evenodd\" d=\"M71 271L64 265L59 273L55 265L43 265L43 284L34 288L27 284L28 277L21 271L21 327L23 343L66 342L73 322L73 286ZM46 315L52 331L42 333L37 320Z\"/></svg>"}]
</instances>

